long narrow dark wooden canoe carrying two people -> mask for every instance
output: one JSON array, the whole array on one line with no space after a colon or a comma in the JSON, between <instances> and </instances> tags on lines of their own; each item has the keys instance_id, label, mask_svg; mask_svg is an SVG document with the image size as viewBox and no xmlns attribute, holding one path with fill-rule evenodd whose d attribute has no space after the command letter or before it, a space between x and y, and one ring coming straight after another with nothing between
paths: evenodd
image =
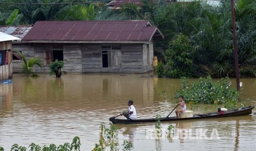
<instances>
[{"instance_id":1,"label":"long narrow dark wooden canoe carrying two people","mask_svg":"<svg viewBox=\"0 0 256 151\"><path fill-rule=\"evenodd\" d=\"M219 114L218 112L206 113L206 114L194 114L191 118L177 118L177 117L166 117L160 118L160 121L178 121L178 120L191 120L191 119L204 119L204 118L223 118L223 117L234 117L239 115L248 115L252 113L254 106L242 107L237 109L228 110L224 114ZM136 123L146 123L146 122L155 122L158 119L137 119L137 120L128 120L128 119L116 119L116 117L111 117L110 121L113 124L136 124Z\"/></svg>"}]
</instances>

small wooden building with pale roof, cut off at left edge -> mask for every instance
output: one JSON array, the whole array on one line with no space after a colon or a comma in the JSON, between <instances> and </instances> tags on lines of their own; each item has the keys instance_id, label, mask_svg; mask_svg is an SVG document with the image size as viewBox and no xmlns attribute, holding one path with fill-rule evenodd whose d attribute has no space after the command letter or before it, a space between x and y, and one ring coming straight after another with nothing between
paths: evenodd
<instances>
[{"instance_id":1,"label":"small wooden building with pale roof, cut off at left edge","mask_svg":"<svg viewBox=\"0 0 256 151\"><path fill-rule=\"evenodd\" d=\"M20 38L0 32L0 80L12 78L12 40Z\"/></svg>"}]
</instances>

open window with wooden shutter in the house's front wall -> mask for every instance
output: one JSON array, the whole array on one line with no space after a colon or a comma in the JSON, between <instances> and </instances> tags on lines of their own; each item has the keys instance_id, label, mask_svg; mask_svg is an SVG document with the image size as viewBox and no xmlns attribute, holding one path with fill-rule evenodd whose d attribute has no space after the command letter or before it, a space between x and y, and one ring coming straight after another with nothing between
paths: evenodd
<instances>
[{"instance_id":1,"label":"open window with wooden shutter in the house's front wall","mask_svg":"<svg viewBox=\"0 0 256 151\"><path fill-rule=\"evenodd\" d=\"M102 67L113 68L118 67L121 63L119 57L121 55L121 45L102 45Z\"/></svg>"}]
</instances>

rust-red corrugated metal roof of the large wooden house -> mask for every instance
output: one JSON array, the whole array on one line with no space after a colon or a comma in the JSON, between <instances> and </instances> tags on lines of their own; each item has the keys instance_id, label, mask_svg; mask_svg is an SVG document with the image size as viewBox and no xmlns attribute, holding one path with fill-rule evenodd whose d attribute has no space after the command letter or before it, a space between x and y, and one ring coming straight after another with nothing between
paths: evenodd
<instances>
[{"instance_id":1,"label":"rust-red corrugated metal roof of the large wooden house","mask_svg":"<svg viewBox=\"0 0 256 151\"><path fill-rule=\"evenodd\" d=\"M149 21L37 21L25 40L64 40L83 42L148 42L161 32ZM160 33L160 34L159 34Z\"/></svg>"}]
</instances>

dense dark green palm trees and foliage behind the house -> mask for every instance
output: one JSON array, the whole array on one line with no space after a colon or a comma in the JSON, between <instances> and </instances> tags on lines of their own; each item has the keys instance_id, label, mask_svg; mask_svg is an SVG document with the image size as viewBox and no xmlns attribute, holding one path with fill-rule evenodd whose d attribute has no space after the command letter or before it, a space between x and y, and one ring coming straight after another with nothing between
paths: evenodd
<instances>
[{"instance_id":1,"label":"dense dark green palm trees and foliage behind the house","mask_svg":"<svg viewBox=\"0 0 256 151\"><path fill-rule=\"evenodd\" d=\"M167 68L159 70L159 77L235 77L230 0L221 0L219 5L205 1L166 4L164 0L141 0L142 7L128 3L115 11L108 9L108 2L3 0L0 22L26 25L38 20L149 20L165 36L164 40L154 42L154 55ZM236 1L239 69L244 77L256 75L255 8L254 0ZM14 10L16 16L11 15ZM15 24L7 20L15 20Z\"/></svg>"}]
</instances>

